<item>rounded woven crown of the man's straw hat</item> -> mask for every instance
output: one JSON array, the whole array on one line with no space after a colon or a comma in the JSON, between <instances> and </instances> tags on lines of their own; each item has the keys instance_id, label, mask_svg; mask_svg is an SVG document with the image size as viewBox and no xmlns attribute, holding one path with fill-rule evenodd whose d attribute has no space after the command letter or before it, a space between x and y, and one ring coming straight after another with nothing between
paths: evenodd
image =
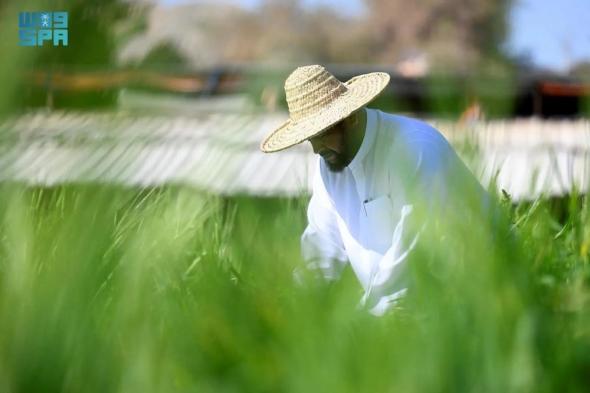
<instances>
[{"instance_id":1,"label":"rounded woven crown of the man's straw hat","mask_svg":"<svg viewBox=\"0 0 590 393\"><path fill-rule=\"evenodd\" d=\"M348 88L321 65L299 67L285 81L292 121L319 114Z\"/></svg>"}]
</instances>

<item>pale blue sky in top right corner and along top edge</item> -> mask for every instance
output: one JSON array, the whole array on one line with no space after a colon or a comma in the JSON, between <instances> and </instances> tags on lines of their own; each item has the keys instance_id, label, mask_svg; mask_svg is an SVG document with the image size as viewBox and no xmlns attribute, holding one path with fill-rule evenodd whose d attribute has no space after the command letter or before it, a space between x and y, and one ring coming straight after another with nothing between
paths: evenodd
<instances>
[{"instance_id":1,"label":"pale blue sky in top right corner and along top edge","mask_svg":"<svg viewBox=\"0 0 590 393\"><path fill-rule=\"evenodd\" d=\"M158 0L160 4L202 0ZM491 0L494 1L494 0ZM225 0L255 8L261 0ZM307 7L329 6L344 14L364 10L362 0L302 0ZM576 62L590 61L590 0L514 0L506 49L528 56L542 68L565 72Z\"/></svg>"}]
</instances>

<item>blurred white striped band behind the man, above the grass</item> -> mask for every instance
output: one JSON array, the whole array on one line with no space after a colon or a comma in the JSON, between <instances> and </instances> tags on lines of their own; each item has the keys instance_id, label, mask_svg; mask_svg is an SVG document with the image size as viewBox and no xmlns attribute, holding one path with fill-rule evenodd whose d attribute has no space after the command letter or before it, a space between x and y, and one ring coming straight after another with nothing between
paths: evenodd
<instances>
[{"instance_id":1,"label":"blurred white striped band behind the man, above the grass","mask_svg":"<svg viewBox=\"0 0 590 393\"><path fill-rule=\"evenodd\" d=\"M220 194L297 195L308 192L314 156L300 145L274 154L258 150L285 113L33 112L0 124L0 180L55 185L112 182L189 184ZM432 122L455 145L484 185L515 199L588 189L588 120L489 121L457 126Z\"/></svg>"}]
</instances>

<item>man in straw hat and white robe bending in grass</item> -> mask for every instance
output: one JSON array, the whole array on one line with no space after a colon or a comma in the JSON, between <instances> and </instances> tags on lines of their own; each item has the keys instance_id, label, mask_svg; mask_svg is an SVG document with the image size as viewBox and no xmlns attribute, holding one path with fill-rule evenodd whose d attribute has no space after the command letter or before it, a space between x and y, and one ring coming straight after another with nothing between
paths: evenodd
<instances>
[{"instance_id":1,"label":"man in straw hat and white robe bending in grass","mask_svg":"<svg viewBox=\"0 0 590 393\"><path fill-rule=\"evenodd\" d=\"M458 179L483 193L434 128L365 107L388 82L381 72L342 83L322 66L297 68L285 81L289 120L261 144L275 152L308 140L320 156L303 256L328 279L350 263L363 304L377 315L406 290L406 261L420 234L408 226L415 207L445 205Z\"/></svg>"}]
</instances>

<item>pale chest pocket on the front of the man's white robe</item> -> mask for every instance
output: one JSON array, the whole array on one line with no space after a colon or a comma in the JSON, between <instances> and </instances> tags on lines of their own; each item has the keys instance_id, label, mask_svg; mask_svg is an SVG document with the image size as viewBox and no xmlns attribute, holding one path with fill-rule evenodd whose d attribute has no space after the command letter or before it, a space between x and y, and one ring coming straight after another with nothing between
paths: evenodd
<instances>
[{"instance_id":1,"label":"pale chest pocket on the front of the man's white robe","mask_svg":"<svg viewBox=\"0 0 590 393\"><path fill-rule=\"evenodd\" d=\"M364 201L360 221L367 246L377 252L384 252L391 246L394 217L389 195Z\"/></svg>"}]
</instances>

